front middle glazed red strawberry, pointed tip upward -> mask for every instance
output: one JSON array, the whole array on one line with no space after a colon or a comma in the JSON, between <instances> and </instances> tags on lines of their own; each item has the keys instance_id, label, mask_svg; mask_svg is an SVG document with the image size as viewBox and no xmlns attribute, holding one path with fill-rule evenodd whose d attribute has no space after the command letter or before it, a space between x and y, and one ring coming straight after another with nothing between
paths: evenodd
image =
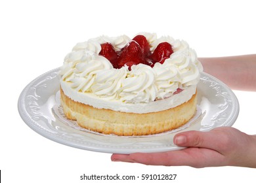
<instances>
[{"instance_id":1,"label":"front middle glazed red strawberry, pointed tip upward","mask_svg":"<svg viewBox=\"0 0 256 183\"><path fill-rule=\"evenodd\" d=\"M123 48L123 52L117 59L117 69L127 65L131 70L132 65L138 65L139 63L145 63L144 55L139 44L135 41L131 41Z\"/></svg>"}]
</instances>

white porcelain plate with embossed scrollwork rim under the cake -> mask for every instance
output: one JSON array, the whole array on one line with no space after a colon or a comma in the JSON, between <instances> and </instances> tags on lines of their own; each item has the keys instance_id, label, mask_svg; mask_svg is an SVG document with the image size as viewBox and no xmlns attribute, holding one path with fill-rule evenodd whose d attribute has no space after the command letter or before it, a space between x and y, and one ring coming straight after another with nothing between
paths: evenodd
<instances>
[{"instance_id":1,"label":"white porcelain plate with embossed scrollwork rim under the cake","mask_svg":"<svg viewBox=\"0 0 256 183\"><path fill-rule=\"evenodd\" d=\"M202 73L198 84L198 113L188 124L167 133L141 137L102 135L75 127L62 115L59 106L59 69L35 78L20 94L20 116L34 131L61 144L95 152L130 154L133 152L165 152L179 150L173 136L181 131L209 131L231 126L236 121L239 104L223 82Z\"/></svg>"}]
</instances>

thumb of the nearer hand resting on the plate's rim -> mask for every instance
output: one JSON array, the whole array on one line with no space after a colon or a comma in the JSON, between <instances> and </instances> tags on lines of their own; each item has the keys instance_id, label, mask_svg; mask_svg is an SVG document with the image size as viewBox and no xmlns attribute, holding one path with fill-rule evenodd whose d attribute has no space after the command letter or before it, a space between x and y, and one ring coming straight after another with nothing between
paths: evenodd
<instances>
[{"instance_id":1,"label":"thumb of the nearer hand resting on the plate's rim","mask_svg":"<svg viewBox=\"0 0 256 183\"><path fill-rule=\"evenodd\" d=\"M177 146L217 148L221 136L214 131L185 131L175 135L173 142Z\"/></svg>"}]
</instances>

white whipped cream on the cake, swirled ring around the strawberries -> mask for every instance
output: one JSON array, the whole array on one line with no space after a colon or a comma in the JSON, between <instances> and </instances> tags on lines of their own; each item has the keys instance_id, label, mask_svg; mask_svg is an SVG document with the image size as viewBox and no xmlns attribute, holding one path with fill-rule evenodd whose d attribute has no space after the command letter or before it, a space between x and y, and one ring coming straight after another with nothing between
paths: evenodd
<instances>
[{"instance_id":1,"label":"white whipped cream on the cake, swirled ring around the strawberries","mask_svg":"<svg viewBox=\"0 0 256 183\"><path fill-rule=\"evenodd\" d=\"M173 94L178 88L183 90L181 93L185 93L184 91L188 88L194 88L189 90L189 94L186 93L191 97L196 92L200 72L203 71L196 52L185 41L169 36L158 39L155 33L139 34L146 37L151 52L154 52L160 42L169 42L172 45L173 54L169 59L165 59L163 64L156 63L154 67L144 64L133 65L129 71L127 66L114 69L108 59L98 55L101 50L100 44L104 42L110 42L116 51L121 50L131 41L126 35L101 36L79 42L64 58L64 63L60 67L60 84L64 93L72 99L77 98L75 97L77 95L80 99L100 97L110 103L137 106L180 95L180 93ZM68 92L69 90L72 92ZM188 99L182 99L177 105ZM81 102L79 99L76 100ZM85 99L82 103L98 107L98 103L87 101L91 100ZM120 109L115 108L115 110Z\"/></svg>"}]
</instances>

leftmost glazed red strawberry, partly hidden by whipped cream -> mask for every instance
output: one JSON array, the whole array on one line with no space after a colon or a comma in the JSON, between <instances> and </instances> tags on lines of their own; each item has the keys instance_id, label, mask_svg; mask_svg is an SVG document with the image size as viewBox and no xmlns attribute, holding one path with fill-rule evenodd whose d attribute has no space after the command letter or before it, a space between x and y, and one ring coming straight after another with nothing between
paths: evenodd
<instances>
[{"instance_id":1,"label":"leftmost glazed red strawberry, partly hidden by whipped cream","mask_svg":"<svg viewBox=\"0 0 256 183\"><path fill-rule=\"evenodd\" d=\"M101 50L99 55L104 56L104 58L108 59L112 65L115 67L116 61L117 61L117 53L114 50L112 44L110 42L106 42L103 44L100 44Z\"/></svg>"}]
</instances>

